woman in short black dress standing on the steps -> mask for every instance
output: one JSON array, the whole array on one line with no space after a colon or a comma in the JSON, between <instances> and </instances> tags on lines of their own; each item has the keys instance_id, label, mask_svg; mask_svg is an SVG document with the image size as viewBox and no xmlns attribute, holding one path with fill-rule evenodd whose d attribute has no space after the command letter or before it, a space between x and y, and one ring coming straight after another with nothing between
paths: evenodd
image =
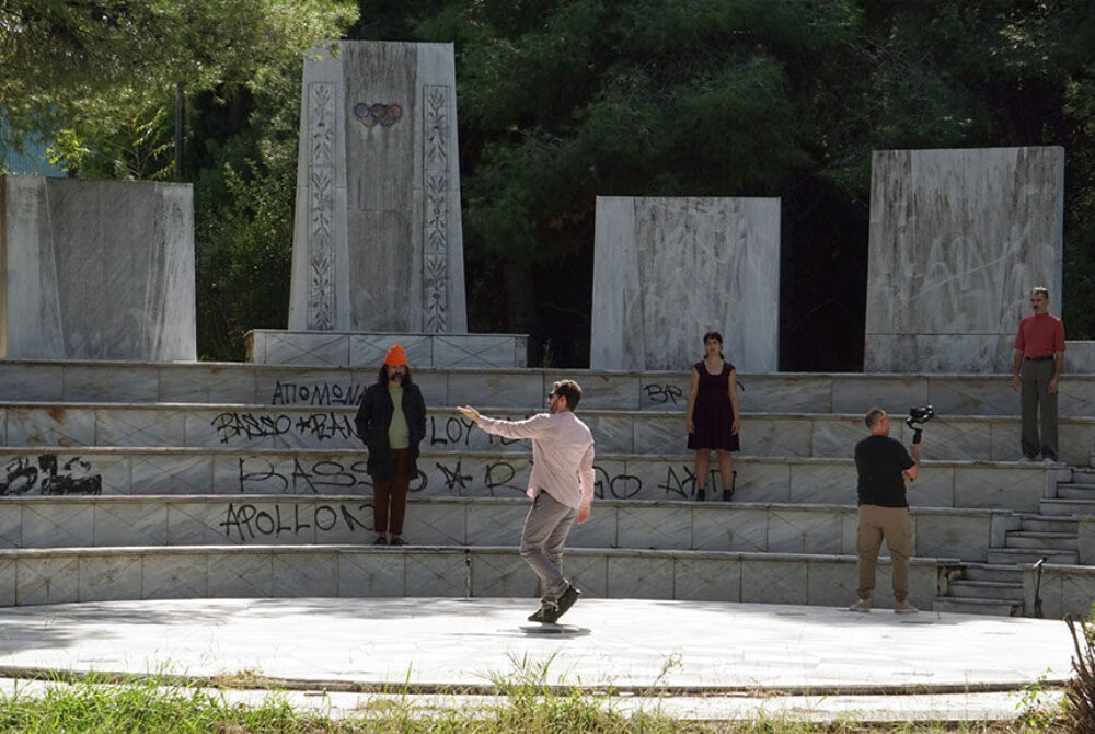
<instances>
[{"instance_id":1,"label":"woman in short black dress standing on the steps","mask_svg":"<svg viewBox=\"0 0 1095 734\"><path fill-rule=\"evenodd\" d=\"M688 391L688 447L695 450L695 498L707 498L711 451L718 454L723 501L734 497L734 459L737 451L738 372L723 359L723 337L717 331L703 335L705 355L692 365Z\"/></svg>"}]
</instances>

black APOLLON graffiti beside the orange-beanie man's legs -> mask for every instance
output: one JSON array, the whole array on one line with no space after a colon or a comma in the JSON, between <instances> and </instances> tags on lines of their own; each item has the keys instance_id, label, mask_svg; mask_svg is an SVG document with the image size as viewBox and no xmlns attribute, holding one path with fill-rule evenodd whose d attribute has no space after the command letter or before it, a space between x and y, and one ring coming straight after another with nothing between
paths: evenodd
<instances>
[{"instance_id":1,"label":"black APOLLON graffiti beside the orange-beanie man's legs","mask_svg":"<svg viewBox=\"0 0 1095 734\"><path fill-rule=\"evenodd\" d=\"M219 523L226 538L247 542L255 538L299 538L311 536L312 528L330 532L335 528L357 531L372 530L372 503L338 504L275 504L256 506L250 503L229 503L224 519Z\"/></svg>"}]
</instances>

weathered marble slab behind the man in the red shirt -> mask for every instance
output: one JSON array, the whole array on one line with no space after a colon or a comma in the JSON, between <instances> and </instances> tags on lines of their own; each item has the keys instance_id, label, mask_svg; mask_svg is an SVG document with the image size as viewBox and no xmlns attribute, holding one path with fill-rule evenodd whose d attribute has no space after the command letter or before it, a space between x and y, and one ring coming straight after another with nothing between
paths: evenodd
<instances>
[{"instance_id":1,"label":"weathered marble slab behind the man in the red shirt","mask_svg":"<svg viewBox=\"0 0 1095 734\"><path fill-rule=\"evenodd\" d=\"M1007 372L1034 286L1061 312L1064 149L881 150L864 369Z\"/></svg>"}]
</instances>

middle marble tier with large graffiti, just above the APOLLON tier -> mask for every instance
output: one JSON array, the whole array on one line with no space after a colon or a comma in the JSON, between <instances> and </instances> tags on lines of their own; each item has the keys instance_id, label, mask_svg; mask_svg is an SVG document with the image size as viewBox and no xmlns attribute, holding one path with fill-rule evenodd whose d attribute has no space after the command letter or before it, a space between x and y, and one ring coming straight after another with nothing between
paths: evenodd
<instances>
[{"instance_id":1,"label":"middle marble tier with large graffiti, just above the APOLLON tier","mask_svg":"<svg viewBox=\"0 0 1095 734\"><path fill-rule=\"evenodd\" d=\"M412 482L416 496L517 496L529 483L531 456L502 444L440 450L427 445ZM714 467L715 462L713 462ZM735 500L851 504L851 458L738 456ZM614 500L690 500L692 459L600 452L596 493ZM710 488L721 486L713 468ZM924 461L909 500L919 507L1039 512L1059 469L1041 465ZM1067 470L1065 470L1067 472ZM18 494L358 494L371 491L364 449L230 447L0 448L0 495ZM717 501L712 497L708 501ZM1002 542L1002 539L1001 539Z\"/></svg>"}]
</instances>

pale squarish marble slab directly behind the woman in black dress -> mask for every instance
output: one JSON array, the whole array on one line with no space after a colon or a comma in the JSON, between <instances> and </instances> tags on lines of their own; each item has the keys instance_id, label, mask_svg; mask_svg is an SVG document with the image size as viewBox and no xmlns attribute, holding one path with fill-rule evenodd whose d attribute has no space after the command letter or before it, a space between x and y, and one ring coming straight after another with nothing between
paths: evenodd
<instances>
[{"instance_id":1,"label":"pale squarish marble slab directly behind the woman in black dress","mask_svg":"<svg viewBox=\"0 0 1095 734\"><path fill-rule=\"evenodd\" d=\"M589 366L779 369L780 199L597 197Z\"/></svg>"}]
</instances>

